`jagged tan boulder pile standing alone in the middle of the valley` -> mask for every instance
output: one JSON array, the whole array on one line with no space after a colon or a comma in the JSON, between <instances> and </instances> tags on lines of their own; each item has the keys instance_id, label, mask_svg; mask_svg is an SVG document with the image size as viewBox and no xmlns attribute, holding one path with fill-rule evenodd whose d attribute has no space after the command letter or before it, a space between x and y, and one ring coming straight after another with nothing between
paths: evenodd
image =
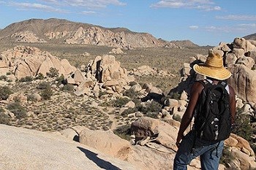
<instances>
[{"instance_id":1,"label":"jagged tan boulder pile standing alone in the middle of the valley","mask_svg":"<svg viewBox=\"0 0 256 170\"><path fill-rule=\"evenodd\" d=\"M127 69L121 68L121 63L116 61L113 55L97 56L94 61L90 61L86 67L86 72L77 70L67 77L69 84L78 85L75 94L80 96L99 95L99 90L106 93L121 93L128 83L133 80L128 76Z\"/></svg>"}]
</instances>

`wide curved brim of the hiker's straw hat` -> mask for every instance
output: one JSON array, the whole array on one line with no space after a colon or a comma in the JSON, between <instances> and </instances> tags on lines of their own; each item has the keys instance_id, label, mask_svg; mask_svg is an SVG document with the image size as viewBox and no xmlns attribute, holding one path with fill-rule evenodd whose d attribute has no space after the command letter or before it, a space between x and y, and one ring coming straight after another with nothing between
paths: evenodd
<instances>
[{"instance_id":1,"label":"wide curved brim of the hiker's straw hat","mask_svg":"<svg viewBox=\"0 0 256 170\"><path fill-rule=\"evenodd\" d=\"M193 69L198 74L202 74L204 76L211 77L217 80L226 80L231 76L231 72L225 69L224 67L219 69L219 68L211 68L203 64L195 64L193 66Z\"/></svg>"}]
</instances>

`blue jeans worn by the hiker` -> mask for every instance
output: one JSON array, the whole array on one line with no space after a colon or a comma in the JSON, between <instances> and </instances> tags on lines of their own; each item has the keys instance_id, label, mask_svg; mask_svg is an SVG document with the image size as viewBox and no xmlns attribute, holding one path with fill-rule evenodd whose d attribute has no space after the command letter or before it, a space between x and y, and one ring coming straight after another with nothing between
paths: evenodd
<instances>
[{"instance_id":1,"label":"blue jeans worn by the hiker","mask_svg":"<svg viewBox=\"0 0 256 170\"><path fill-rule=\"evenodd\" d=\"M194 146L194 147L193 147ZM182 139L173 162L174 170L186 170L192 159L200 156L201 169L217 170L222 156L224 141L209 142L195 139L195 131L190 131Z\"/></svg>"}]
</instances>

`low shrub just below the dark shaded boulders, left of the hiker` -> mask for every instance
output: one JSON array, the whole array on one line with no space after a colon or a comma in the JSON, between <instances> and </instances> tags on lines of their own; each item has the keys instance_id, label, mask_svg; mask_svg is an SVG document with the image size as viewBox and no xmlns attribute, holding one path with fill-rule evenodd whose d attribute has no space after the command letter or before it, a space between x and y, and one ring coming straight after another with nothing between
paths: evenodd
<instances>
[{"instance_id":1,"label":"low shrub just below the dark shaded boulders, left of the hiker","mask_svg":"<svg viewBox=\"0 0 256 170\"><path fill-rule=\"evenodd\" d=\"M149 112L160 112L162 110L162 105L157 101L151 101L150 103L146 103L145 106L139 104L137 106L138 111L143 112L144 114Z\"/></svg>"}]
</instances>

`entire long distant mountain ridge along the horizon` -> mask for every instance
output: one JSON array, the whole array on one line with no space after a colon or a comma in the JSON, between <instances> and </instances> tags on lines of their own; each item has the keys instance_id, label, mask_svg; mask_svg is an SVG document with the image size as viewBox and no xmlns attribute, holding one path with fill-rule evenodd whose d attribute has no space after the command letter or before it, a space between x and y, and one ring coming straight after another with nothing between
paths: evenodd
<instances>
[{"instance_id":1,"label":"entire long distant mountain ridge along the horizon","mask_svg":"<svg viewBox=\"0 0 256 170\"><path fill-rule=\"evenodd\" d=\"M137 47L199 47L189 40L168 42L148 33L127 28L104 28L89 23L50 18L12 23L0 30L1 42L65 43L103 45L132 49Z\"/></svg>"}]
</instances>

